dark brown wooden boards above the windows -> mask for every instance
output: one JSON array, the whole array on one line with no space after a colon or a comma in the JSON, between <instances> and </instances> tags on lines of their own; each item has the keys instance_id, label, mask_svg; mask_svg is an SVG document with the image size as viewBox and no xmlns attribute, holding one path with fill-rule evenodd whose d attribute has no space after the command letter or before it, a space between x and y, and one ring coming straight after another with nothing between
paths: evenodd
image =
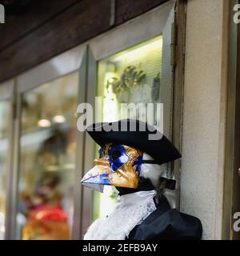
<instances>
[{"instance_id":1,"label":"dark brown wooden boards above the windows","mask_svg":"<svg viewBox=\"0 0 240 256\"><path fill-rule=\"evenodd\" d=\"M7 13L0 24L0 82L166 1L41 0Z\"/></svg>"}]
</instances>

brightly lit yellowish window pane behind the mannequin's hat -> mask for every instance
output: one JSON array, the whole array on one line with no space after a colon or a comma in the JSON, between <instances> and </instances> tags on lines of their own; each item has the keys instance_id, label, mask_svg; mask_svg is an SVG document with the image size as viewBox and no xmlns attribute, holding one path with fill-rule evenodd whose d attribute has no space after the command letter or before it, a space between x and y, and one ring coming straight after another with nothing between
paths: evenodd
<instances>
[{"instance_id":1,"label":"brightly lit yellowish window pane behind the mannequin's hat","mask_svg":"<svg viewBox=\"0 0 240 256\"><path fill-rule=\"evenodd\" d=\"M114 122L119 118L137 118L145 121L145 113L129 111L121 113L121 103L159 102L162 77L162 35L98 62L98 96L102 96L102 108L98 108L97 122ZM149 119L148 119L149 121ZM159 122L154 110L150 122ZM98 157L98 146L96 146ZM93 192L92 220L106 216L114 208L117 192L105 186L103 194ZM104 206L104 207L103 207Z\"/></svg>"}]
</instances>

